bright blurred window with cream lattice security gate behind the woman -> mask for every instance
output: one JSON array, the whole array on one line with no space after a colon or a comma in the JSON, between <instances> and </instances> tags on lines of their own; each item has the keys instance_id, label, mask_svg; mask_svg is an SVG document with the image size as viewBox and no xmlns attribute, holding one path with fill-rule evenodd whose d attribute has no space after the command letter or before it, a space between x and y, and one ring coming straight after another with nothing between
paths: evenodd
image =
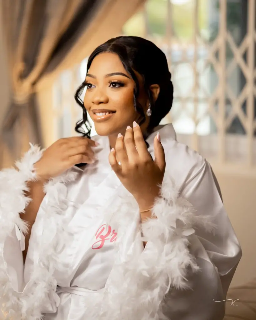
<instances>
[{"instance_id":1,"label":"bright blurred window with cream lattice security gate behind the woman","mask_svg":"<svg viewBox=\"0 0 256 320\"><path fill-rule=\"evenodd\" d=\"M166 54L174 101L161 123L210 161L242 170L256 166L255 13L248 0L147 0L122 32ZM56 139L81 118L73 95L85 71L86 60L54 86Z\"/></svg>"}]
</instances>

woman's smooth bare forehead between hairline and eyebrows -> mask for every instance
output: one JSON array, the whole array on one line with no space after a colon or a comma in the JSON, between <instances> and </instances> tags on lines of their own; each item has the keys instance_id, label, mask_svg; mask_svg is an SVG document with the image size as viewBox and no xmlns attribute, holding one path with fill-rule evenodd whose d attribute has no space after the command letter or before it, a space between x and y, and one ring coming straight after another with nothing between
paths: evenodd
<instances>
[{"instance_id":1,"label":"woman's smooth bare forehead between hairline and eyebrows","mask_svg":"<svg viewBox=\"0 0 256 320\"><path fill-rule=\"evenodd\" d=\"M93 60L88 72L107 74L111 72L123 72L128 75L121 60L116 53L102 52Z\"/></svg>"}]
</instances>

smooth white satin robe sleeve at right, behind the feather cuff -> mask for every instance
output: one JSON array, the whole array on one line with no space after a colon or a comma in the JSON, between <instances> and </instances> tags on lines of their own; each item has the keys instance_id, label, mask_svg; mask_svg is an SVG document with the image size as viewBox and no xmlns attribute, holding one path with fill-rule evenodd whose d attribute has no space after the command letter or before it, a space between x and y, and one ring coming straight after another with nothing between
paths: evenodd
<instances>
[{"instance_id":1,"label":"smooth white satin robe sleeve at right, behind the feather cuff","mask_svg":"<svg viewBox=\"0 0 256 320\"><path fill-rule=\"evenodd\" d=\"M228 287L241 259L242 251L218 189L219 186L216 185L212 168L207 161L204 161L201 168L189 177L188 182L180 190L180 196L188 200L193 207L195 220L194 223L193 218L190 221L195 232L192 229L189 230L189 224L186 222L178 226L177 222L182 220L181 210L175 224L176 238L173 238L172 241L178 241L177 230L179 229L181 233L178 231L178 234L183 233L184 238L187 236L188 252L183 257L184 264L187 264L187 266L186 271L184 271L181 261L179 261L180 255L178 252L180 248L176 246L174 251L170 251L173 254L173 259L169 261L170 264L176 264L177 274L179 268L180 272L184 273L181 277L182 281L180 281L180 277L174 274L175 270L168 270L168 265L166 265L165 270L167 273L169 272L170 280L172 278L170 290L165 295L163 303L163 314L167 319L221 320L225 315L225 302L223 300L226 299ZM164 193L165 197L168 197L166 190L164 190ZM178 204L177 201L178 198L176 204ZM170 208L175 204L175 202L169 203ZM180 208L182 207L184 208L181 205ZM159 211L156 207L155 209ZM167 207L165 207L165 210L168 212ZM179 211L179 206L176 205L177 211ZM161 220L163 216L159 218ZM209 221L209 224L207 224L207 221ZM152 223L157 224L158 222L152 221ZM149 243L147 254L151 250L150 245L152 244ZM147 246L145 250L147 250ZM188 257L191 258L190 261L186 261ZM167 262L166 256L164 262ZM183 280L186 282L183 283Z\"/></svg>"}]
</instances>

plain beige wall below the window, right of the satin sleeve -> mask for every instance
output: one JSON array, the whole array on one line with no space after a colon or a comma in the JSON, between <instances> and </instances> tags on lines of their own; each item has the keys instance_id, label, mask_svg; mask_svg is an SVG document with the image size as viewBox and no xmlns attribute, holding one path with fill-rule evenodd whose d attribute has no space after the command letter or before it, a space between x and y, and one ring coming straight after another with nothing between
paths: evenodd
<instances>
[{"instance_id":1,"label":"plain beige wall below the window, right of the satin sleeve","mask_svg":"<svg viewBox=\"0 0 256 320\"><path fill-rule=\"evenodd\" d=\"M231 286L256 278L256 179L220 172L214 168L229 219L241 244L243 256Z\"/></svg>"}]
</instances>

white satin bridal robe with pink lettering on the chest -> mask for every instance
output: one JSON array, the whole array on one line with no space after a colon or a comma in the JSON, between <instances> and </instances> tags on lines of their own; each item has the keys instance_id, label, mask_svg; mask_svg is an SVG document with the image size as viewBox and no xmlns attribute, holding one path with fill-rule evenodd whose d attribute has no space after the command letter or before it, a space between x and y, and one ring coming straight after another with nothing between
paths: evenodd
<instances>
[{"instance_id":1,"label":"white satin bridal robe with pink lettering on the chest","mask_svg":"<svg viewBox=\"0 0 256 320\"><path fill-rule=\"evenodd\" d=\"M21 263L24 236L20 232L20 227L17 227L18 222L15 223L12 234L4 241L0 271L6 271L8 275L9 283L5 284L5 290L8 292L13 290L10 296L14 296L15 293L15 297L20 299L19 304L16 305L13 300L8 306L13 311L12 316L18 315L20 306L26 303L27 311L24 309L23 313L21 312L23 316L26 315L24 319L36 318L36 313L32 316L32 311L29 311L33 309L29 306L29 303L32 304L32 298L27 298L29 290L35 290L33 294L37 298L33 304L44 314L45 320L221 320L224 317L225 303L215 301L225 300L242 252L223 207L218 192L219 187L216 186L209 163L195 151L176 141L172 124L157 127L148 137L149 152L153 159L153 139L156 131L160 132L165 150L166 174L168 172L174 181L179 197L194 207L198 223L195 220L193 224L192 218L191 225L185 230L184 226L178 226L175 222L179 237L167 236L162 245L158 239L161 237L161 232L167 232L164 229L165 223L160 225L161 219L165 218L160 217L161 210L156 207L156 211L160 212L159 219L152 219L148 230L145 228L144 234L148 235L149 239L144 249L140 238L138 206L133 197L129 197L127 190L121 185L108 163L110 152L108 138L94 136L92 139L100 143L94 148L98 161L87 165L84 170L72 168L71 174L75 172L76 176L73 181L69 179L70 182L66 185L59 180L58 188L54 185L45 187L47 193L32 227L24 269ZM167 182L165 198L169 196L168 192L172 193L170 190L172 185ZM59 197L60 193L62 197ZM171 199L172 197L173 195L170 195ZM184 204L177 202L174 207L171 207L172 202L170 202L169 206L178 217L179 208L186 206L186 201ZM53 214L56 208L61 214ZM165 215L174 214L171 209L169 213L166 207L163 208ZM3 213L2 210L1 214ZM207 216L211 218L211 223L215 224L214 230L211 229L211 224L211 230L206 227L204 218ZM68 230L68 236L62 236L62 229ZM175 241L177 246L174 248ZM51 247L51 243L52 246L54 244L54 248ZM172 252L172 257L166 253L154 262L157 251L161 251L165 244L166 248L168 245L172 248L169 251ZM183 244L187 244L189 252L183 249ZM47 289L47 299L41 303L40 292L37 291L41 290L43 295L42 292L46 290L44 278L48 278L44 276L42 271L44 269L40 269L43 268L40 266L40 256L41 259L46 257L47 250L50 250L47 248L53 250L51 251L53 254L48 254L47 262L43 263L47 265L45 270L52 270L52 277L49 278L51 289ZM44 253L45 257L42 257ZM128 265L124 267L127 257L137 258L133 259L129 267ZM160 259L163 259L162 264L159 264L158 269L154 269ZM199 271L195 272L193 267L189 267L191 259L195 259ZM121 267L118 261L121 262ZM39 279L39 282L35 280L35 284L31 280L33 272L36 279ZM168 284L163 287L165 289L168 287L169 290L162 301L158 293L152 291L157 292L158 285L160 287L166 283L166 279L163 280L163 275L166 274L169 274L167 278L172 283L170 287ZM189 289L182 289L183 280L188 282ZM47 280L48 285L49 282ZM147 296L147 290L152 284L154 289L150 289L148 292L151 296ZM36 291L35 288L40 290ZM106 288L109 292L107 296ZM26 290L27 296L24 298L22 294L24 295ZM1 289L0 292L3 294ZM157 311L160 305L162 311L160 307ZM13 319L16 320L15 316Z\"/></svg>"}]
</instances>

